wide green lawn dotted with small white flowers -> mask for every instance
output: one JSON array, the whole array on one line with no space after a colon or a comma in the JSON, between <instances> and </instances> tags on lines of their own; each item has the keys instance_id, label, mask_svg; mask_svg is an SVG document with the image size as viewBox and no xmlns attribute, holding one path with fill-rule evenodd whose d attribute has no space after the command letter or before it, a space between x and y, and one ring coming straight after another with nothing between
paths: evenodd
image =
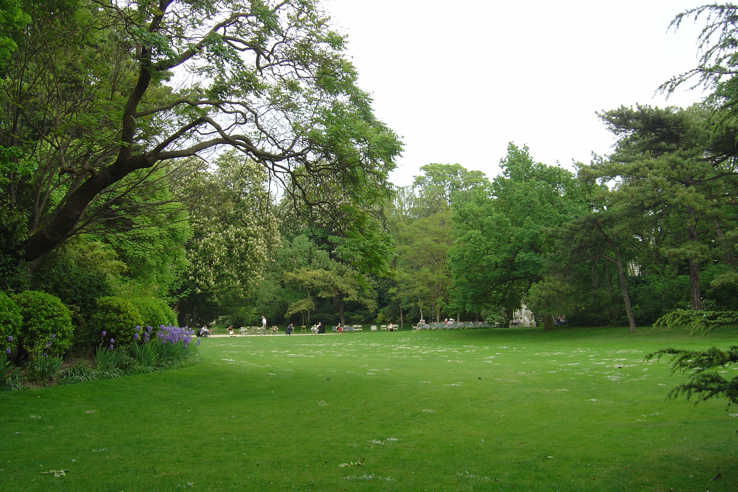
<instances>
[{"instance_id":1,"label":"wide green lawn dotted with small white flowers","mask_svg":"<svg viewBox=\"0 0 738 492\"><path fill-rule=\"evenodd\" d=\"M684 378L643 357L735 335L204 339L181 370L0 393L0 490L734 492L738 409L666 401Z\"/></svg>"}]
</instances>

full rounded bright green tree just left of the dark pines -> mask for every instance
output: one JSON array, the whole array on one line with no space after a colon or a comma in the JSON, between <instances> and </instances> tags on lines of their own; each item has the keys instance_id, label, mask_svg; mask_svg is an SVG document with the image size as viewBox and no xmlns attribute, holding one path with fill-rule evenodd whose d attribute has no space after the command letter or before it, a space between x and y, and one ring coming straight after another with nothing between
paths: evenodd
<instances>
[{"instance_id":1,"label":"full rounded bright green tree just left of the dark pines","mask_svg":"<svg viewBox=\"0 0 738 492\"><path fill-rule=\"evenodd\" d=\"M520 306L543 279L542 258L556 246L554 228L584 206L584 191L570 171L534 162L528 148L508 146L503 173L489 194L457 204L458 241L451 269L468 310Z\"/></svg>"}]
</instances>

